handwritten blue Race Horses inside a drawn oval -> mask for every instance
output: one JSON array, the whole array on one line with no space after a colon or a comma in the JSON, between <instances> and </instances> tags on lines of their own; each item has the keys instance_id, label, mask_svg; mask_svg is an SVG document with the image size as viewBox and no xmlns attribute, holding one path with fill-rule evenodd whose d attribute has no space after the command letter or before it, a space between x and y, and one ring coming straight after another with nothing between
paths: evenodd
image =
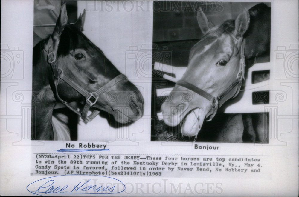
<instances>
[{"instance_id":1,"label":"handwritten blue Race Horses inside a drawn oval","mask_svg":"<svg viewBox=\"0 0 299 197\"><path fill-rule=\"evenodd\" d=\"M91 182L94 182L94 184ZM123 192L126 189L126 186L120 180L108 176L76 174L42 178L30 183L26 189L33 195L36 194L39 196L46 196L47 194L51 195L54 193L67 195L72 193L115 194Z\"/></svg>"}]
</instances>

